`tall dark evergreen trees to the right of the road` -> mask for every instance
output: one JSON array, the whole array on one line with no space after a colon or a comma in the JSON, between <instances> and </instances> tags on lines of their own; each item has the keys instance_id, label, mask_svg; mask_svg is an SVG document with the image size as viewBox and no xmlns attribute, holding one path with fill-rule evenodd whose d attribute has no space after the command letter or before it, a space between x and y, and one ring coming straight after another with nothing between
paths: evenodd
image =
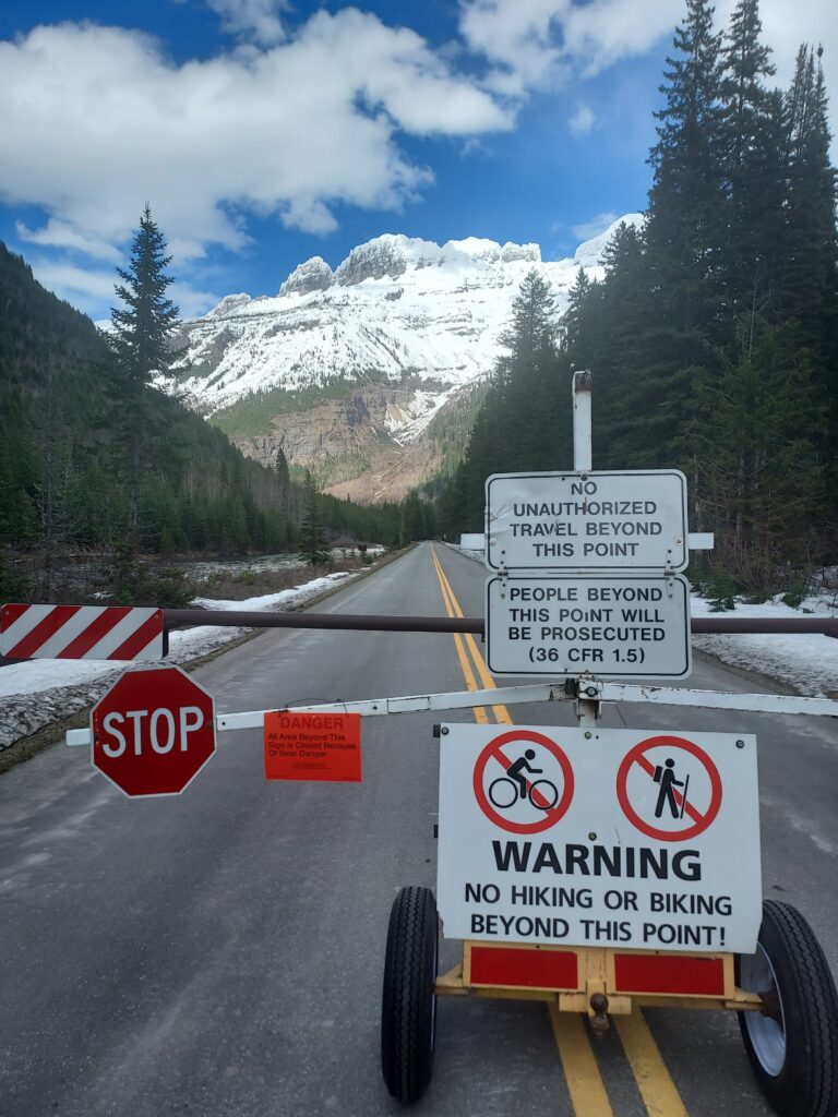
<instances>
[{"instance_id":1,"label":"tall dark evergreen trees to the right of the road","mask_svg":"<svg viewBox=\"0 0 838 1117\"><path fill-rule=\"evenodd\" d=\"M726 31L688 0L656 113L640 227L555 321L531 273L442 531L483 527L493 471L569 468L570 376L593 373L594 466L679 467L710 562L769 593L838 553L838 237L821 50L773 88L758 0Z\"/></svg>"}]
</instances>

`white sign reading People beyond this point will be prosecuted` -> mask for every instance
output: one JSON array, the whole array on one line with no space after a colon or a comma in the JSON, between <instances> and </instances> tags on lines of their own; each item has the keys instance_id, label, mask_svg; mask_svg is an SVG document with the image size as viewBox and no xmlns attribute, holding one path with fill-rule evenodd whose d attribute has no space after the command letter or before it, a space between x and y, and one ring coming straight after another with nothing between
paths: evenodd
<instances>
[{"instance_id":1,"label":"white sign reading People beyond this point will be prosecuted","mask_svg":"<svg viewBox=\"0 0 838 1117\"><path fill-rule=\"evenodd\" d=\"M486 582L494 675L685 678L689 584L680 574L513 574Z\"/></svg>"}]
</instances>

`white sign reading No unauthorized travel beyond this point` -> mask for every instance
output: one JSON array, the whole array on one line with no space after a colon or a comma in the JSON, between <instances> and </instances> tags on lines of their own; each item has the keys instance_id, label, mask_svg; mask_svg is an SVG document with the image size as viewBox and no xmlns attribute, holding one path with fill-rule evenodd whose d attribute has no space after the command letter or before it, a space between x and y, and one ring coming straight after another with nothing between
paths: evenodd
<instances>
[{"instance_id":1,"label":"white sign reading No unauthorized travel beyond this point","mask_svg":"<svg viewBox=\"0 0 838 1117\"><path fill-rule=\"evenodd\" d=\"M687 481L677 469L493 474L489 570L686 570Z\"/></svg>"}]
</instances>

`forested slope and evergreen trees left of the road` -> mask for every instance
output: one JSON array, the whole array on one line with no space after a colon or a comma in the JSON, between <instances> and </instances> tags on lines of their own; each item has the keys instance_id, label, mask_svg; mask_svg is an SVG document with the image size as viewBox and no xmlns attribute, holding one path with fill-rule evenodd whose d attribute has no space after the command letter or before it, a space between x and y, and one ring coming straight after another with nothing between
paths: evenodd
<instances>
[{"instance_id":1,"label":"forested slope and evergreen trees left of the road","mask_svg":"<svg viewBox=\"0 0 838 1117\"><path fill-rule=\"evenodd\" d=\"M60 563L82 552L124 571L140 554L301 544L312 497L282 455L275 467L246 458L153 385L181 356L168 264L146 207L103 334L0 242L0 600L48 600ZM326 541L400 540L398 505L314 499Z\"/></svg>"}]
</instances>

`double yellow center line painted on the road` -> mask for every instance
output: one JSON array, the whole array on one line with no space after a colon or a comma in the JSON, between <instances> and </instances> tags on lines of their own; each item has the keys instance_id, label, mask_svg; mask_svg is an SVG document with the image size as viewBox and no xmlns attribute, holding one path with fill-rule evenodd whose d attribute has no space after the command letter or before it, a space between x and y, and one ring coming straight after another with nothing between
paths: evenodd
<instances>
[{"instance_id":1,"label":"double yellow center line painted on the road","mask_svg":"<svg viewBox=\"0 0 838 1117\"><path fill-rule=\"evenodd\" d=\"M431 555L446 612L449 617L463 617L463 610L435 547L431 548ZM472 633L455 632L454 643L467 688L497 689ZM505 706L498 704L489 708L498 725L513 724ZM474 716L479 725L492 724L483 706L474 707ZM550 1016L577 1117L615 1117L582 1016L559 1012L558 1005L551 1005ZM648 1117L688 1117L642 1013L635 1010L630 1016L615 1018L615 1022Z\"/></svg>"}]
</instances>

